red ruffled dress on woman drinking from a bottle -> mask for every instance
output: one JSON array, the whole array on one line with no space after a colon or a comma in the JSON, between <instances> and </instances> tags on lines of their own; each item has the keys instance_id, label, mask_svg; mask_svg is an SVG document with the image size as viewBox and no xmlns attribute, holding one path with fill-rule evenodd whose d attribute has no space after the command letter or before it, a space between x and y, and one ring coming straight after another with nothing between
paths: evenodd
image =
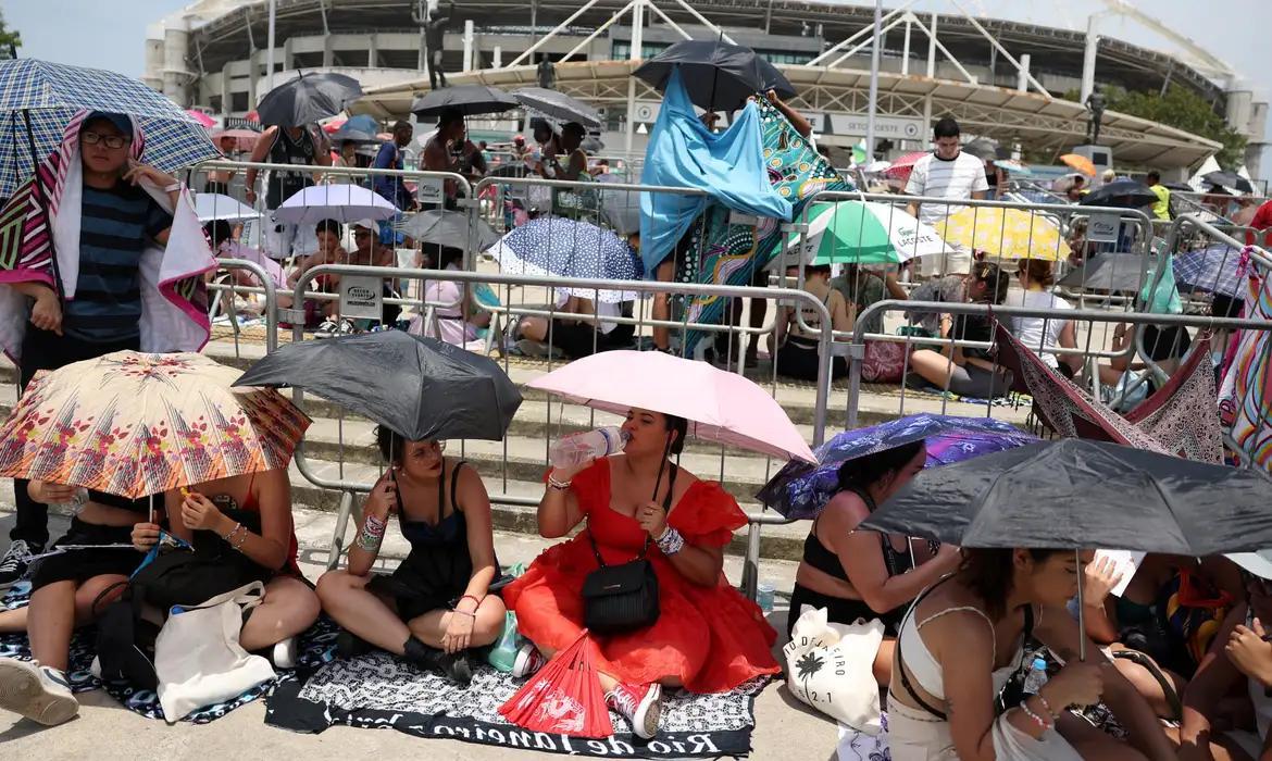
<instances>
[{"instance_id":1,"label":"red ruffled dress on woman drinking from a bottle","mask_svg":"<svg viewBox=\"0 0 1272 761\"><path fill-rule=\"evenodd\" d=\"M607 565L635 559L647 536L635 518L609 508L608 461L577 473L571 489L588 528L543 551L525 575L504 588L520 632L552 650L567 648L583 630L583 582L597 570L586 532L597 537ZM747 515L719 484L696 481L672 506L668 523L687 543L722 547L747 524ZM597 638L600 671L633 685L677 677L692 692L725 692L781 671L771 653L777 632L724 574L715 585L701 587L682 576L656 545L647 557L658 574L659 620L647 629Z\"/></svg>"}]
</instances>

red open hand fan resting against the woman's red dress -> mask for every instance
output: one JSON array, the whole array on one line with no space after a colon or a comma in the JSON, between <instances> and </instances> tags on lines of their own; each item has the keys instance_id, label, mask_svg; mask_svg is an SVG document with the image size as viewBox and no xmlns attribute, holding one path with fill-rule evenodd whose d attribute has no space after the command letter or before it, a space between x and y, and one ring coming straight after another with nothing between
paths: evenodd
<instances>
[{"instance_id":1,"label":"red open hand fan resting against the woman's red dress","mask_svg":"<svg viewBox=\"0 0 1272 761\"><path fill-rule=\"evenodd\" d=\"M530 732L609 737L614 727L597 677L594 652L595 645L585 629L574 644L553 655L509 697L499 713Z\"/></svg>"}]
</instances>

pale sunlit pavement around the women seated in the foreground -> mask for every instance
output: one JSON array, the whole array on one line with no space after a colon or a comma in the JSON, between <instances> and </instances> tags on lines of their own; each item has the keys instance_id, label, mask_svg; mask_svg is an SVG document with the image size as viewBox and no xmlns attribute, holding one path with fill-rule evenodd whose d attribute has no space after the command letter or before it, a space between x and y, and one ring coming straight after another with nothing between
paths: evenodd
<instances>
[{"instance_id":1,"label":"pale sunlit pavement around the women seated in the foreground","mask_svg":"<svg viewBox=\"0 0 1272 761\"><path fill-rule=\"evenodd\" d=\"M4 501L11 500L8 485L0 484ZM67 518L51 518L52 533L65 529ZM13 526L11 504L0 504L0 532L8 536ZM327 541L335 526L331 513L298 510L296 534L300 542L301 566L305 575L317 579L326 561ZM548 542L524 534L499 533L495 537L504 562L532 560ZM6 540L0 538L0 546ZM387 538L385 551L401 556L406 543L401 536ZM725 561L729 578L738 580L742 562L738 557ZM761 578L778 590L789 590L795 576L795 564L764 561ZM785 611L771 616L776 629L785 630ZM196 727L178 723L168 727L144 719L120 706L106 692L80 695L80 716L62 727L46 729L13 714L0 713L0 758L391 758L407 755L430 758L550 758L543 753L510 751L446 739L420 739L398 732L333 728L323 734L294 734L265 725L265 705L259 701L243 706L230 715ZM770 685L756 700L754 758L834 757L837 729L832 720L805 710L780 683Z\"/></svg>"}]
</instances>

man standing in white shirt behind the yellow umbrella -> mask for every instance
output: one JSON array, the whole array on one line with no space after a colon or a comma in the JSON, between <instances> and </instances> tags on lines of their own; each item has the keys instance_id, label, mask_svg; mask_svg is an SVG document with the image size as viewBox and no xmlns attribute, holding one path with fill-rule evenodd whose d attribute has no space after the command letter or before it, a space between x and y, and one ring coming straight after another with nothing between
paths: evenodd
<instances>
[{"instance_id":1,"label":"man standing in white shirt behind the yellow umbrella","mask_svg":"<svg viewBox=\"0 0 1272 761\"><path fill-rule=\"evenodd\" d=\"M948 201L985 199L990 183L985 181L985 163L974 155L960 150L958 122L945 117L932 127L935 150L915 163L906 183L907 196L927 196ZM912 201L908 211L920 221L935 225L951 214L958 214L964 206L951 202ZM944 260L944 261L939 261ZM951 247L940 257L920 257L921 274L967 275L972 267L972 252L963 247Z\"/></svg>"}]
</instances>

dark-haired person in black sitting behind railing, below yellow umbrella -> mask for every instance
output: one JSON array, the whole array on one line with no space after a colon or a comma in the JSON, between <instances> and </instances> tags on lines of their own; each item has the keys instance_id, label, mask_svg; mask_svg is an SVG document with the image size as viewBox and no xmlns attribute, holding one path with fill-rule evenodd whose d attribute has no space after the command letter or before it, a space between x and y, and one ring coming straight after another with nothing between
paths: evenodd
<instances>
[{"instance_id":1,"label":"dark-haired person in black sitting behind railing, below yellow umbrella","mask_svg":"<svg viewBox=\"0 0 1272 761\"><path fill-rule=\"evenodd\" d=\"M997 265L978 262L967 284L973 304L1001 304L1007 297L1007 274ZM988 314L943 314L943 339L993 342L993 321ZM918 349L909 355L909 367L923 380L959 396L992 398L1011 388L1011 374L993 364L988 349L963 349L943 345L940 350Z\"/></svg>"}]
</instances>

